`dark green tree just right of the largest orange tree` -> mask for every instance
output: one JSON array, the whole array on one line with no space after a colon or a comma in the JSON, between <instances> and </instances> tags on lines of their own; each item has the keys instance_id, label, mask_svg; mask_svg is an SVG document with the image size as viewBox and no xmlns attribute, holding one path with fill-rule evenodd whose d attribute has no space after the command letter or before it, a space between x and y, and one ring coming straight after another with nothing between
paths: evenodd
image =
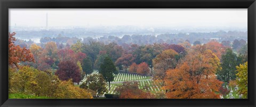
<instances>
[{"instance_id":1,"label":"dark green tree just right of the largest orange tree","mask_svg":"<svg viewBox=\"0 0 256 107\"><path fill-rule=\"evenodd\" d=\"M217 77L220 81L229 82L236 79L236 66L239 64L239 59L236 54L228 48L226 53L221 56L222 69L217 72Z\"/></svg>"}]
</instances>

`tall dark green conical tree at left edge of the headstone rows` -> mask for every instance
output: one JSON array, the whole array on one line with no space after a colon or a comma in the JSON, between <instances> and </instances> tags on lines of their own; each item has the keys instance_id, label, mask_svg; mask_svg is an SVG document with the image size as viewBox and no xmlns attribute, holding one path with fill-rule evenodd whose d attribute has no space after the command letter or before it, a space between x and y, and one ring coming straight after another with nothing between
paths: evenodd
<instances>
[{"instance_id":1,"label":"tall dark green conical tree at left edge of the headstone rows","mask_svg":"<svg viewBox=\"0 0 256 107\"><path fill-rule=\"evenodd\" d=\"M106 57L103 60L103 64L100 65L100 71L99 73L103 75L103 77L106 79L108 82L108 90L110 90L110 82L114 81L114 73L116 72L116 67L113 63L113 61L109 58Z\"/></svg>"}]
</instances>

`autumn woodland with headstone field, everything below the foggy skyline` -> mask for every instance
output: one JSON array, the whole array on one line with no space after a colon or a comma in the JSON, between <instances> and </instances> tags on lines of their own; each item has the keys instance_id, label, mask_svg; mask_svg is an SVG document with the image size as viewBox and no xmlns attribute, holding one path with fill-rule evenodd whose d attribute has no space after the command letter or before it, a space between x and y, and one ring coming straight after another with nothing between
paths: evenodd
<instances>
[{"instance_id":1,"label":"autumn woodland with headstone field, everything below the foggy skyline","mask_svg":"<svg viewBox=\"0 0 256 107\"><path fill-rule=\"evenodd\" d=\"M247 32L58 34L39 42L14 35L19 32L9 34L11 95L219 99L235 88L247 97Z\"/></svg>"}]
</instances>

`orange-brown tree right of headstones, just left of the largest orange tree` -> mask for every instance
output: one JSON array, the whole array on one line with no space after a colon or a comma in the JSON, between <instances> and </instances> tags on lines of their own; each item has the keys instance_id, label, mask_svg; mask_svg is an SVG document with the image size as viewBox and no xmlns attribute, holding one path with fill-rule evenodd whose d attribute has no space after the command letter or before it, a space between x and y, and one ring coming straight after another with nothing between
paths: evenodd
<instances>
[{"instance_id":1,"label":"orange-brown tree right of headstones, just left of the largest orange tree","mask_svg":"<svg viewBox=\"0 0 256 107\"><path fill-rule=\"evenodd\" d=\"M154 77L155 78L164 78L167 69L173 69L176 67L179 56L178 52L173 49L164 50L162 53L156 56L153 59L154 65Z\"/></svg>"}]
</instances>

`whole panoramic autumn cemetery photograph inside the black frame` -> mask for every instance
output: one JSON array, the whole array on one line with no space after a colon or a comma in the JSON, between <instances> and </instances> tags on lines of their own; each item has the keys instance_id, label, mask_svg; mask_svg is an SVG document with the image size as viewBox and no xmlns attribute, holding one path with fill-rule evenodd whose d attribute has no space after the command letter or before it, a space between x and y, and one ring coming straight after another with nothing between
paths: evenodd
<instances>
[{"instance_id":1,"label":"whole panoramic autumn cemetery photograph inside the black frame","mask_svg":"<svg viewBox=\"0 0 256 107\"><path fill-rule=\"evenodd\" d=\"M247 20L247 8L9 8L8 97L248 99Z\"/></svg>"}]
</instances>

